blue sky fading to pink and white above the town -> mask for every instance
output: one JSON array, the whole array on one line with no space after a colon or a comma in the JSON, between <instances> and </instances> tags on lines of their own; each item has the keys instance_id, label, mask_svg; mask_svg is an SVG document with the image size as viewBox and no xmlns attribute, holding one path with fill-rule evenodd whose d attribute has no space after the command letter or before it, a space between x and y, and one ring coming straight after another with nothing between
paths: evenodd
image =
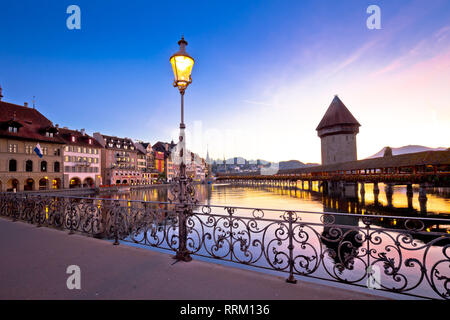
<instances>
[{"instance_id":1,"label":"blue sky fading to pink and white above the town","mask_svg":"<svg viewBox=\"0 0 450 320\"><path fill-rule=\"evenodd\" d=\"M68 30L67 6L81 8ZM381 8L369 30L366 9ZM4 101L60 126L177 139L169 57L196 63L187 144L201 156L320 162L315 131L338 94L361 123L358 158L450 147L450 1L9 1L0 10Z\"/></svg>"}]
</instances>

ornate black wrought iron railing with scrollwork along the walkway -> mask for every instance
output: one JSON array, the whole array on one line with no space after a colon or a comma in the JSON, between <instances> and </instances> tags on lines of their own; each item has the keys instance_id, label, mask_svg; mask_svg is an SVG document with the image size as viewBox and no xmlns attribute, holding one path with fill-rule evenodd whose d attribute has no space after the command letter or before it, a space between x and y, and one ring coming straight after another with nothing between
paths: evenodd
<instances>
[{"instance_id":1,"label":"ornate black wrought iron railing with scrollwork along the walkway","mask_svg":"<svg viewBox=\"0 0 450 320\"><path fill-rule=\"evenodd\" d=\"M181 209L180 209L181 208ZM177 251L185 215L190 254L417 297L450 299L450 220L0 195L0 215L69 233Z\"/></svg>"}]
</instances>

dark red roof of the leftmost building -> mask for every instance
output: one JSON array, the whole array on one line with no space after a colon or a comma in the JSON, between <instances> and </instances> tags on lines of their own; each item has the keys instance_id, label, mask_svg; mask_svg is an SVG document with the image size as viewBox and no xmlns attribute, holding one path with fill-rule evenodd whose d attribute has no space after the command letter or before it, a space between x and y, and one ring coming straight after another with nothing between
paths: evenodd
<instances>
[{"instance_id":1,"label":"dark red roof of the leftmost building","mask_svg":"<svg viewBox=\"0 0 450 320\"><path fill-rule=\"evenodd\" d=\"M9 132L8 127L13 124L17 132ZM55 133L47 137L46 131ZM50 143L64 143L59 137L58 128L35 108L20 106L0 101L0 136L21 140L33 140Z\"/></svg>"}]
</instances>

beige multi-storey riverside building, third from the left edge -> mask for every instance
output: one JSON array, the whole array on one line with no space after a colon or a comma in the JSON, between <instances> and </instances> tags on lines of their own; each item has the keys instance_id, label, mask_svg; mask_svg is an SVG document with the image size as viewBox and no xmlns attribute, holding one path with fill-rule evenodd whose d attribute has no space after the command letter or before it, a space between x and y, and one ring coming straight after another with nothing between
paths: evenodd
<instances>
[{"instance_id":1,"label":"beige multi-storey riverside building, third from the left edge","mask_svg":"<svg viewBox=\"0 0 450 320\"><path fill-rule=\"evenodd\" d=\"M137 168L137 150L129 138L118 138L94 133L94 138L102 146L101 176L106 185L141 183L142 174Z\"/></svg>"}]
</instances>

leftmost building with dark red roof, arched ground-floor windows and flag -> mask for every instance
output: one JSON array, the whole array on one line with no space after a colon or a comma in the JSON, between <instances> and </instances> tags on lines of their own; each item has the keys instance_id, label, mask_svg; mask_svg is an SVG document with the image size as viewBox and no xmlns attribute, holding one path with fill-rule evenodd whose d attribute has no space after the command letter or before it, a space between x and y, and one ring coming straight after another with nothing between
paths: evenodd
<instances>
[{"instance_id":1,"label":"leftmost building with dark red roof, arched ground-floor windows and flag","mask_svg":"<svg viewBox=\"0 0 450 320\"><path fill-rule=\"evenodd\" d=\"M58 127L34 107L1 101L0 191L60 189L64 141ZM42 157L34 151L40 145Z\"/></svg>"}]
</instances>

